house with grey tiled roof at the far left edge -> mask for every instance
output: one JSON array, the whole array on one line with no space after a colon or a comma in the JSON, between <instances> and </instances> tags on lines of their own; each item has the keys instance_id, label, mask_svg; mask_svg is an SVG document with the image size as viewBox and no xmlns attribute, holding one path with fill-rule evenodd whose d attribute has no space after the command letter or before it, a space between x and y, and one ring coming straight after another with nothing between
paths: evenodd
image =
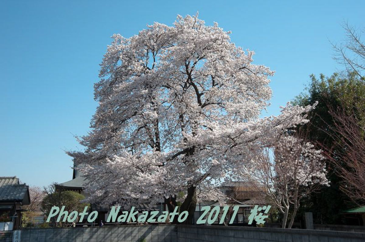
<instances>
[{"instance_id":1,"label":"house with grey tiled roof at the far left edge","mask_svg":"<svg viewBox=\"0 0 365 242\"><path fill-rule=\"evenodd\" d=\"M16 176L0 176L0 230L16 230L22 223L23 205L30 204L29 187Z\"/></svg>"}]
</instances>

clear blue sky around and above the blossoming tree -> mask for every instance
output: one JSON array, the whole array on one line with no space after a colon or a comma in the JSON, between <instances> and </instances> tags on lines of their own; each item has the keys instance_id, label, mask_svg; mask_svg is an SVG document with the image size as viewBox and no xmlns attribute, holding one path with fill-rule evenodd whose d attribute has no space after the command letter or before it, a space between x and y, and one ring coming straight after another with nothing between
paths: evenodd
<instances>
[{"instance_id":1,"label":"clear blue sky around and above the blossoming tree","mask_svg":"<svg viewBox=\"0 0 365 242\"><path fill-rule=\"evenodd\" d=\"M64 151L80 149L73 135L89 130L93 83L113 33L130 37L199 11L255 51L254 63L276 71L267 115L277 115L310 74L341 68L330 41L345 38L343 21L364 28L364 8L364 1L1 1L0 176L37 186L72 178Z\"/></svg>"}]
</instances>

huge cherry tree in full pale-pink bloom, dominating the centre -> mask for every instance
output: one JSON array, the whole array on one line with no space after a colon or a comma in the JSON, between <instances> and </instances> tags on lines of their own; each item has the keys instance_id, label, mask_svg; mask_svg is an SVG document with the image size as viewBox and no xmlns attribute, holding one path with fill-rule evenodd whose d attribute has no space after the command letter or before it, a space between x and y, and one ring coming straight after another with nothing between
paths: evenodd
<instances>
[{"instance_id":1,"label":"huge cherry tree in full pale-pink bloom, dominating the centre","mask_svg":"<svg viewBox=\"0 0 365 242\"><path fill-rule=\"evenodd\" d=\"M252 160L278 132L306 123L313 106L288 104L259 119L272 92L268 67L231 42L217 23L177 16L113 35L95 84L99 106L83 152L68 152L89 182L90 201L133 205L184 191L180 211L192 221L197 199ZM197 197L197 188L205 190ZM209 191L209 192L208 192Z\"/></svg>"}]
</instances>

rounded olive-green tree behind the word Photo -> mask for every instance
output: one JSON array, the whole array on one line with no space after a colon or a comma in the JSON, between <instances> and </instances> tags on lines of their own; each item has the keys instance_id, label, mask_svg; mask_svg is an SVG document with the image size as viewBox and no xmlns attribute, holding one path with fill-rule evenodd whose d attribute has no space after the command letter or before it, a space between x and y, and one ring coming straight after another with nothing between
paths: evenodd
<instances>
[{"instance_id":1,"label":"rounded olive-green tree behind the word Photo","mask_svg":"<svg viewBox=\"0 0 365 242\"><path fill-rule=\"evenodd\" d=\"M62 206L65 206L64 211L68 211L69 214L72 211L83 211L85 206L89 206L88 203L82 202L82 200L85 199L84 195L75 191L57 191L55 185L57 185L57 183L54 182L48 187L44 188L46 196L42 201L42 211L46 216L49 215L53 206L58 206L60 209ZM57 223L56 219L57 216L51 218L51 223L55 227L64 227L68 225L67 221L65 223Z\"/></svg>"}]
</instances>

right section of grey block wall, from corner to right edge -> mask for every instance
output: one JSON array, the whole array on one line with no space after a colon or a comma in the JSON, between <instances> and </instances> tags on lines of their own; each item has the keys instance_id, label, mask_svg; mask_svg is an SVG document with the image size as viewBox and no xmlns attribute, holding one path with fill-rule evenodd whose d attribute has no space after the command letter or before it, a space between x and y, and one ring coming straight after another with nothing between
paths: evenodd
<instances>
[{"instance_id":1,"label":"right section of grey block wall, from corner to right edge","mask_svg":"<svg viewBox=\"0 0 365 242\"><path fill-rule=\"evenodd\" d=\"M365 233L226 226L177 226L178 242L364 242Z\"/></svg>"}]
</instances>

